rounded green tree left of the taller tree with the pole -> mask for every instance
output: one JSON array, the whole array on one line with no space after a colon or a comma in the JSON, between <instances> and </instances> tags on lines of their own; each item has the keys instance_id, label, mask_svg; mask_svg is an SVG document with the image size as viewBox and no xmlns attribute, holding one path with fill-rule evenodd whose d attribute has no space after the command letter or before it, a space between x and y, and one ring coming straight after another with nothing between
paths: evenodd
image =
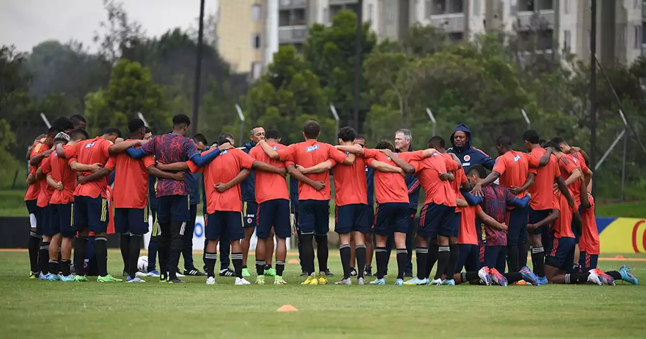
<instances>
[{"instance_id":1,"label":"rounded green tree left of the taller tree with the pole","mask_svg":"<svg viewBox=\"0 0 646 339\"><path fill-rule=\"evenodd\" d=\"M249 120L278 130L284 143L302 141L302 127L313 119L321 125L321 140L335 140L335 122L327 113L319 79L298 58L293 46L280 46L269 70L243 101Z\"/></svg>"}]
</instances>

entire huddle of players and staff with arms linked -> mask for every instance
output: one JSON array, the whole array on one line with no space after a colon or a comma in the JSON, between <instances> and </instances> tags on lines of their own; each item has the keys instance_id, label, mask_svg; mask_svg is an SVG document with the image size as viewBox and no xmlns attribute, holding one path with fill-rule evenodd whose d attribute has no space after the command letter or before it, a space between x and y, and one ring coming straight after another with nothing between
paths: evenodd
<instances>
[{"instance_id":1,"label":"entire huddle of players and staff with arms linked","mask_svg":"<svg viewBox=\"0 0 646 339\"><path fill-rule=\"evenodd\" d=\"M433 136L426 149L413 150L405 129L395 132L394 145L384 140L375 149L366 148L365 138L349 127L339 131L339 145L322 143L316 121L305 123L304 141L288 146L276 130L258 126L240 148L234 148L229 133L208 147L201 134L185 136L191 124L187 116L172 121L171 132L152 136L141 119L132 119L130 139L123 140L116 128L90 139L83 117L59 118L34 141L25 194L30 277L83 282L96 275L98 282L121 282L107 270L106 235L113 221L126 282L152 276L182 283L188 274L206 276L213 285L217 272L235 276L236 285L249 285L247 254L255 232L255 283L273 276L273 283L284 285L293 213L306 277L302 284L327 284L333 275L328 269L332 175L343 267L337 284L351 285L357 276L359 285L385 285L393 247L395 285L639 283L626 265L618 271L597 268L592 171L585 152L561 138L543 141L528 130L526 152L519 152L503 136L495 142L499 157L494 160L471 145L463 124L451 135L452 147L446 149L444 139ZM421 190L424 205L415 223ZM200 196L204 273L192 254ZM149 262L140 267L149 216ZM89 248L94 272L83 264ZM527 267L528 251L533 269ZM373 275L373 256L375 280L366 282Z\"/></svg>"}]
</instances>

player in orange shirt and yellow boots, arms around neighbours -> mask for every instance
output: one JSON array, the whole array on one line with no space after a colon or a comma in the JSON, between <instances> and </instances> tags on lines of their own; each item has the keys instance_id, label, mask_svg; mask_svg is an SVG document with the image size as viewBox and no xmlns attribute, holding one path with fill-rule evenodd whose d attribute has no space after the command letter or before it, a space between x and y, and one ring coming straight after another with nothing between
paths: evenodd
<instances>
[{"instance_id":1,"label":"player in orange shirt and yellow boots, arms around neighbours","mask_svg":"<svg viewBox=\"0 0 646 339\"><path fill-rule=\"evenodd\" d=\"M303 127L305 141L289 145L282 150L272 149L266 142L260 141L258 145L272 159L286 161L287 171L297 178L298 184L298 227L302 239L302 262L308 277L304 285L324 285L328 283L326 271L328 270L328 231L329 231L329 198L330 189L329 172L319 174L300 173L294 164L303 167L313 167L327 159L337 163L351 165L353 158L337 151L328 143L321 143L320 125L309 120ZM318 277L314 274L314 248L313 238L317 241Z\"/></svg>"}]
</instances>

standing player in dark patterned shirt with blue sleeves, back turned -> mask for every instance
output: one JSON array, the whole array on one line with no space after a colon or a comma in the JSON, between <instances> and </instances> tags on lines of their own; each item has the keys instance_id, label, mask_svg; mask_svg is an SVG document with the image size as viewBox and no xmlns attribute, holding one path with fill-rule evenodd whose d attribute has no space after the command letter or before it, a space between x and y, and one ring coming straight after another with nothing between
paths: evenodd
<instances>
[{"instance_id":1,"label":"standing player in dark patterned shirt with blue sleeves, back turned","mask_svg":"<svg viewBox=\"0 0 646 339\"><path fill-rule=\"evenodd\" d=\"M139 149L128 149L128 155L140 159L152 154L160 163L191 160L197 166L207 165L220 152L209 152L202 156L195 148L193 140L185 136L189 125L191 125L191 119L185 114L178 114L172 118L172 133L154 136ZM191 217L188 194L189 189L184 181L167 178L157 180L157 218L161 228L161 234L157 240L161 282L182 283L182 280L177 278L177 265L183 248L186 223Z\"/></svg>"}]
</instances>

